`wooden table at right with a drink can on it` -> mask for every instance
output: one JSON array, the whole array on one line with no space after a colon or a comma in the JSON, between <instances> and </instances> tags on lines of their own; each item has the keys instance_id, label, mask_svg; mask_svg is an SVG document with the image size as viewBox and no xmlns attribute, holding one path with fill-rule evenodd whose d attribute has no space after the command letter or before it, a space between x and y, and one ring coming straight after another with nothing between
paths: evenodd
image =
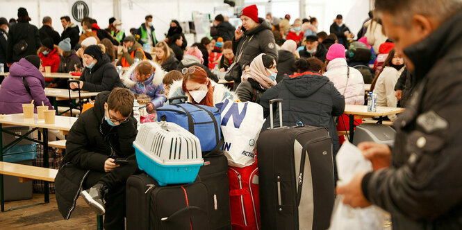
<instances>
[{"instance_id":1,"label":"wooden table at right with a drink can on it","mask_svg":"<svg viewBox=\"0 0 462 230\"><path fill-rule=\"evenodd\" d=\"M381 124L381 118L383 116L399 114L402 112L404 112L404 108L378 106L376 112L368 112L367 105L345 105L345 111L343 112L343 114L347 114L349 116L349 141L353 142L355 127L354 118L362 119L379 116L380 118L379 121L377 121L377 123Z\"/></svg>"}]
</instances>

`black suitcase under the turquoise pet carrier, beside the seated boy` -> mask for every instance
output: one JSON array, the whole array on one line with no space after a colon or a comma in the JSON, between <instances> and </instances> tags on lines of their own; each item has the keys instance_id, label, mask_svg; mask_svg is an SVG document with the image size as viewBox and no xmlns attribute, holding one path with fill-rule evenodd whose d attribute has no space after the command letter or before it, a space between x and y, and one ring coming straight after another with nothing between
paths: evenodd
<instances>
[{"instance_id":1,"label":"black suitcase under the turquoise pet carrier, beside the seated boy","mask_svg":"<svg viewBox=\"0 0 462 230\"><path fill-rule=\"evenodd\" d=\"M209 229L204 183L158 186L146 174L126 182L126 229Z\"/></svg>"}]
</instances>

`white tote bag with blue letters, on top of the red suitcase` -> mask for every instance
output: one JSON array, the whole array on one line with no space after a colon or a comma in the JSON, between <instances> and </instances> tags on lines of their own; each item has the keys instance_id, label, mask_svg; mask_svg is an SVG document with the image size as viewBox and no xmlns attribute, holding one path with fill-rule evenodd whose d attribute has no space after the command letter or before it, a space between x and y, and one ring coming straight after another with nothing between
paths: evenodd
<instances>
[{"instance_id":1,"label":"white tote bag with blue letters, on top of the red suitcase","mask_svg":"<svg viewBox=\"0 0 462 230\"><path fill-rule=\"evenodd\" d=\"M235 103L226 99L220 111L223 150L228 165L240 168L250 166L255 162L256 140L264 122L263 107L257 103Z\"/></svg>"}]
</instances>

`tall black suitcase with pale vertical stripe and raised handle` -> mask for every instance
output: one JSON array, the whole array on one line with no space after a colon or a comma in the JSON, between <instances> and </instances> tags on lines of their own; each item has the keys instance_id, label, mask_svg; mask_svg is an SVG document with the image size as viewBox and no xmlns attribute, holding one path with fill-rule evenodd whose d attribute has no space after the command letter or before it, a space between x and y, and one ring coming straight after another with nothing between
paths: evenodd
<instances>
[{"instance_id":1,"label":"tall black suitcase with pale vertical stripe and raised handle","mask_svg":"<svg viewBox=\"0 0 462 230\"><path fill-rule=\"evenodd\" d=\"M282 124L282 99L279 123ZM257 141L261 229L328 229L334 202L332 139L324 127L271 127Z\"/></svg>"}]
</instances>

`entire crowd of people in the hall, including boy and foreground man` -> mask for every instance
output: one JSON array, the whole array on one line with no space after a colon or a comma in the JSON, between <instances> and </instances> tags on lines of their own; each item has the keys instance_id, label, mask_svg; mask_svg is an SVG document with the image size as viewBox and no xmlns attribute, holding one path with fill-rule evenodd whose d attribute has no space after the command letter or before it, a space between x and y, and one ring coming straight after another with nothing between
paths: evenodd
<instances>
[{"instance_id":1,"label":"entire crowd of people in the hall, including boy and foreground man","mask_svg":"<svg viewBox=\"0 0 462 230\"><path fill-rule=\"evenodd\" d=\"M454 155L461 143L456 134L460 122L452 114L460 108L454 99L459 95L456 63L460 52L454 47L460 46L456 23L462 4L442 1L447 7L427 0L419 1L422 7L415 6L417 0L376 0L376 10L357 35L344 24L342 15L333 19L327 33L318 30L315 17L295 19L292 24L290 15L281 19L269 13L263 19L251 5L240 12L242 26L234 28L228 17L217 15L211 36L190 46L176 20L171 21L164 41L156 38L151 15L139 28L132 28L131 35L125 35L122 22L115 18L101 29L89 17L76 25L64 16L59 35L50 17L44 17L38 29L29 24L27 10L19 8L16 21L0 18L0 62L10 72L2 79L0 114L19 112L11 108L31 100L51 107L44 87L68 86L66 81L41 77L44 67L51 67L51 72L81 72L79 83L71 83L71 89L102 92L94 109L83 113L69 132L64 161L74 168L63 172L78 176L71 186L75 189L61 193L57 200L67 208L60 210L72 211L73 197L80 189L76 185L84 180L85 200L97 213L106 213L106 229L119 229L125 216L124 186L120 185L138 170L131 144L136 134L133 99L147 96L147 112L155 113L174 96L211 107L229 98L260 104L267 118L269 100L282 98L282 125L302 122L326 127L333 138L335 161L345 141L337 131L349 130L345 105L365 105L365 84L371 84L377 106L413 109L402 116L388 116L399 124L400 138L393 152L373 143L359 146L372 164L382 157L380 162L386 162L381 168L386 169L358 175L338 193L345 194L344 202L352 206L381 206L391 213L397 229L454 227L460 215L449 210L459 212L460 183L449 166L461 163ZM126 67L123 74L117 66ZM447 73L447 80L438 78L438 71ZM218 84L219 76L229 83ZM19 87L23 81L30 92ZM13 91L15 97L10 96ZM268 120L263 128L269 126ZM434 125L428 127L423 120ZM431 148L422 148L426 144ZM131 163L116 165L108 158L113 152ZM451 202L443 202L443 197ZM432 205L437 207L436 214L429 211ZM69 218L67 213L63 215Z\"/></svg>"}]
</instances>

